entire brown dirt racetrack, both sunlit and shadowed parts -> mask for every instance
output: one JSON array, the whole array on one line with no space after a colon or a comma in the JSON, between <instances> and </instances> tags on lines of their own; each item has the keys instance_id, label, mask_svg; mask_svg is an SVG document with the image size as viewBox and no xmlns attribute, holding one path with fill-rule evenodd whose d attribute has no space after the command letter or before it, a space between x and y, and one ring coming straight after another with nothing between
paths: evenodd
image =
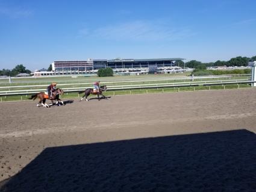
<instances>
[{"instance_id":1,"label":"entire brown dirt racetrack, both sunlit and shadowed parts","mask_svg":"<svg viewBox=\"0 0 256 192\"><path fill-rule=\"evenodd\" d=\"M255 88L112 96L89 102L70 99L51 108L36 104L0 103L2 191L65 191L61 186L67 183L66 191L210 191L216 186L216 191L256 191ZM93 159L87 162L89 167L78 162L81 156ZM48 169L50 163L54 169ZM63 170L60 164L73 167L73 175L65 175L67 169L58 175ZM87 175L78 179L81 167ZM111 173L120 176L111 178ZM34 188L26 190L28 183Z\"/></svg>"}]
</instances>

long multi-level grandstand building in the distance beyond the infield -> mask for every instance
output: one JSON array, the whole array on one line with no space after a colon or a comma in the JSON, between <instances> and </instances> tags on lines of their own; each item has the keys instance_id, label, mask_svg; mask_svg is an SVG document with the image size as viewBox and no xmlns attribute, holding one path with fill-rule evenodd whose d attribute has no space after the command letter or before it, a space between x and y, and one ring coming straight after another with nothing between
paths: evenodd
<instances>
[{"instance_id":1,"label":"long multi-level grandstand building in the distance beyond the infield","mask_svg":"<svg viewBox=\"0 0 256 192\"><path fill-rule=\"evenodd\" d=\"M177 69L176 60L183 58L157 58L157 59L121 59L113 60L85 60L85 61L54 61L52 70L56 74L95 73L98 69L111 67L114 72L149 72L155 70Z\"/></svg>"}]
</instances>

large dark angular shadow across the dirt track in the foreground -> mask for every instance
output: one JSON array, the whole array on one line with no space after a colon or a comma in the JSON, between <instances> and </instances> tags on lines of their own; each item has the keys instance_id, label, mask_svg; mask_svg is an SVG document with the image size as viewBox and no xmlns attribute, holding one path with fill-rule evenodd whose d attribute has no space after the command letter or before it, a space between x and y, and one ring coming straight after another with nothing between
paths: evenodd
<instances>
[{"instance_id":1,"label":"large dark angular shadow across the dirt track in the foreground","mask_svg":"<svg viewBox=\"0 0 256 192\"><path fill-rule=\"evenodd\" d=\"M256 191L245 129L49 147L2 191Z\"/></svg>"}]
</instances>

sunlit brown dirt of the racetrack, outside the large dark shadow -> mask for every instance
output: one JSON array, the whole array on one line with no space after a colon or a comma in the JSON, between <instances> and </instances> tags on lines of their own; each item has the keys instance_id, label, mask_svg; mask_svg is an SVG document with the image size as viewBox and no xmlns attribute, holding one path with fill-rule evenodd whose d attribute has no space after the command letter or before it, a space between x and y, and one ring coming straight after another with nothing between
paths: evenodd
<instances>
[{"instance_id":1,"label":"sunlit brown dirt of the racetrack, outside the large dark shadow","mask_svg":"<svg viewBox=\"0 0 256 192\"><path fill-rule=\"evenodd\" d=\"M182 136L186 134L234 131L237 129L246 129L256 133L255 96L256 89L248 88L242 90L112 96L108 100L102 99L98 101L92 99L89 102L70 99L66 100L66 105L64 106L51 108L38 108L36 107L37 101L3 102L0 103L0 181L14 176L22 169L26 170L26 166L33 159L37 159L40 156L39 154L48 149L55 149L51 147L105 141L133 141L134 138ZM255 137L248 136L247 133L240 135L245 135L246 138L250 137L251 144L255 140ZM223 135L220 137L223 137ZM236 137L237 140L240 140L237 142L245 141L241 136L236 135ZM195 140L193 139L194 137L191 137L194 144L199 140L198 137ZM189 138L182 138L182 140L187 140L187 143L190 143ZM210 137L209 140L211 140ZM166 142L168 143L169 140ZM233 140L226 140L225 142L236 143ZM228 143L226 145L229 145ZM173 143L171 142L170 144ZM203 142L202 145L208 146L208 144ZM159 145L163 149L166 147ZM124 144L119 143L118 146L124 146ZM185 149L189 146L183 143L183 147ZM96 147L96 149L98 148ZM142 147L140 150L142 149L144 149L144 152L149 150L146 147ZM108 150L113 149L109 147ZM251 148L250 151L252 154L250 152L246 153L247 155L249 154L246 157L249 158L248 162L251 162L250 158L256 154L255 150L252 151ZM99 153L104 153L100 147ZM127 151L127 154L134 156L129 151ZM218 155L219 153L216 154ZM157 156L161 155L163 155L161 152L157 154ZM125 156L125 153L123 156ZM63 156L60 158L63 158ZM151 161L153 160L151 159ZM104 160L98 159L98 161L101 163ZM255 166L255 163L253 165ZM39 165L37 167L40 168ZM165 169L164 167L162 168ZM250 175L250 177L254 178L255 175ZM15 183L18 184L19 182L15 181ZM3 184L4 182L2 182ZM131 190L141 191L142 185L137 185L137 188L134 187ZM176 186L177 189L179 187L180 185ZM221 186L219 187L221 188ZM232 185L232 187L234 186ZM256 186L250 185L250 189L254 187L256 188ZM99 188L99 190L102 190L102 188ZM168 189L170 187L164 185L163 188ZM195 191L198 191L199 188L195 187ZM202 189L207 189L207 186L201 186ZM55 190L52 188L52 191ZM71 188L69 189L69 191L72 190ZM83 191L82 189L80 190ZM109 190L111 191L111 189ZM5 191L8 190L5 188ZM51 190L48 188L45 191ZM128 190L123 189L123 191Z\"/></svg>"}]
</instances>

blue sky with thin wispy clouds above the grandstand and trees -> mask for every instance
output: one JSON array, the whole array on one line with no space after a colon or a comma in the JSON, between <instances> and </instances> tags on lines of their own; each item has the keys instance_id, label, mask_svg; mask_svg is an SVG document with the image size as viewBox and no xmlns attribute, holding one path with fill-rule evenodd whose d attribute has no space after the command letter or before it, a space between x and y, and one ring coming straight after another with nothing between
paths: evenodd
<instances>
[{"instance_id":1,"label":"blue sky with thin wispy clouds above the grandstand and trees","mask_svg":"<svg viewBox=\"0 0 256 192\"><path fill-rule=\"evenodd\" d=\"M256 1L2 1L0 69L52 61L256 55Z\"/></svg>"}]
</instances>

